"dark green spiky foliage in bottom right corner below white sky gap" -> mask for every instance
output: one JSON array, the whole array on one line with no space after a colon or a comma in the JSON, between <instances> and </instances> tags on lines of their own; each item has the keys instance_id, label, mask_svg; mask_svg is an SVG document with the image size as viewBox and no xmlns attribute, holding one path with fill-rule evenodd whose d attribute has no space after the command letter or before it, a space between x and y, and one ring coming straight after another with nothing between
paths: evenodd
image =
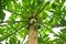
<instances>
[{"instance_id":1,"label":"dark green spiky foliage in bottom right corner below white sky gap","mask_svg":"<svg viewBox=\"0 0 66 44\"><path fill-rule=\"evenodd\" d=\"M62 32L62 33L61 33ZM61 30L59 34L55 34L56 38L54 40L54 42L56 42L56 44L66 44L66 28Z\"/></svg>"}]
</instances>

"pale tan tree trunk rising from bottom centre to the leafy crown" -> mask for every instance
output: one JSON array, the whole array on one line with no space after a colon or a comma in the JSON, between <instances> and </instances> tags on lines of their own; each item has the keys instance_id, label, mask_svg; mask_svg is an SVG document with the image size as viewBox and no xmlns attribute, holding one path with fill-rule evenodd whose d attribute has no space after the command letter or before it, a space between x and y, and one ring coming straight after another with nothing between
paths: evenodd
<instances>
[{"instance_id":1,"label":"pale tan tree trunk rising from bottom centre to the leafy crown","mask_svg":"<svg viewBox=\"0 0 66 44\"><path fill-rule=\"evenodd\" d=\"M31 25L29 30L29 44L37 44L37 33L34 25Z\"/></svg>"}]
</instances>

